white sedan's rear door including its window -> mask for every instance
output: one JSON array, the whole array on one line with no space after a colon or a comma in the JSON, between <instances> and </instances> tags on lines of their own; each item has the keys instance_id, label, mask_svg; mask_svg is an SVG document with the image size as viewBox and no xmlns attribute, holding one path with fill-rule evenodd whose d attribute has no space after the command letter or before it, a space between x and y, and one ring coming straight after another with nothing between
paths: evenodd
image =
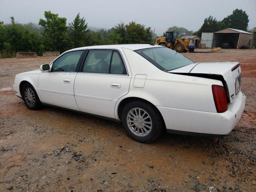
<instances>
[{"instance_id":1,"label":"white sedan's rear door including its window","mask_svg":"<svg viewBox=\"0 0 256 192\"><path fill-rule=\"evenodd\" d=\"M81 111L115 118L117 100L128 93L129 76L119 50L88 50L74 85L76 103Z\"/></svg>"}]
</instances>

